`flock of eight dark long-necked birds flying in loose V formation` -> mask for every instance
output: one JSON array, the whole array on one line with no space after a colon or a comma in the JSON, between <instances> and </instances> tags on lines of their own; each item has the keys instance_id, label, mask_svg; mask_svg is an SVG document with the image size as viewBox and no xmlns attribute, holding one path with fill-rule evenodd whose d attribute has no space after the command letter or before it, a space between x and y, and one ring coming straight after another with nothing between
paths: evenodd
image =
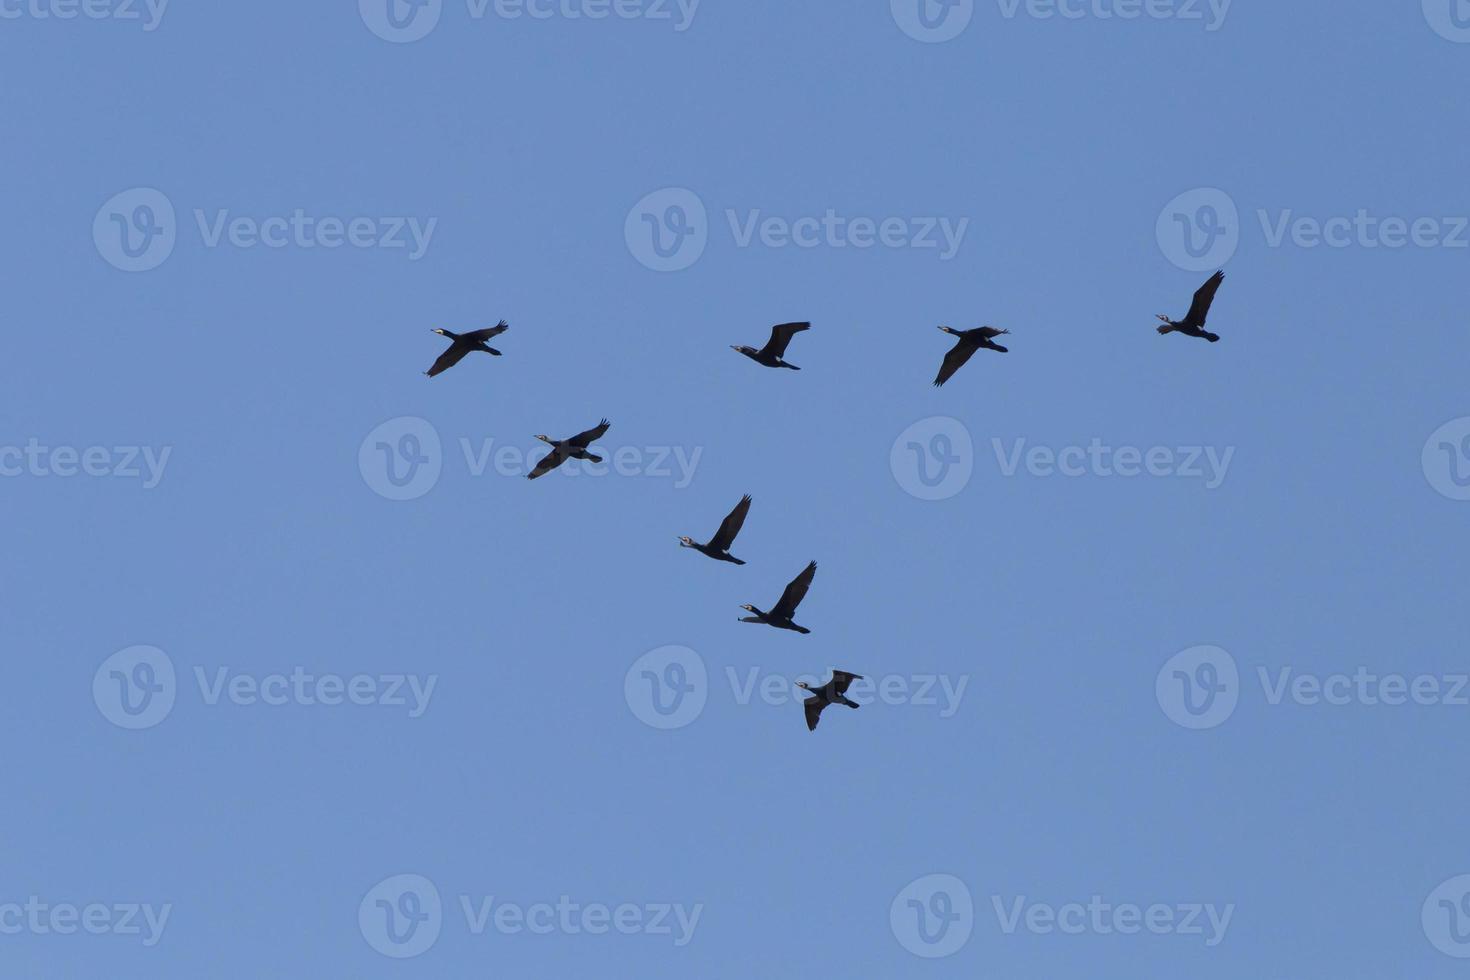
<instances>
[{"instance_id":1,"label":"flock of eight dark long-necked birds flying in loose V formation","mask_svg":"<svg viewBox=\"0 0 1470 980\"><path fill-rule=\"evenodd\" d=\"M1225 282L1225 273L1216 272L1210 279L1200 287L1194 294L1194 301L1189 304L1189 311L1182 320L1172 320L1163 313L1158 319L1163 323L1158 326L1160 334L1183 334L1185 336L1194 336L1198 339L1210 341L1211 344L1220 339L1219 334L1211 334L1204 329L1205 320L1210 316L1210 306L1214 303L1214 294L1219 292L1220 284ZM454 334L451 331L437 329L434 331L440 336L447 336L450 345L442 354L434 361L428 372L429 378L441 375L454 364L459 364L467 354L475 351L482 351L485 354L494 354L500 357L500 351L491 347L487 341L500 336L510 329L510 325L501 320L495 326L487 326L481 331L470 331L467 334ZM786 367L791 370L801 370L795 364L786 361L786 348L791 345L791 338L803 331L811 329L811 323L778 323L770 329L770 339L761 348L747 347L747 345L732 345L731 350L744 354L757 364L763 367ZM1001 347L995 342L997 336L1010 334L1010 331L998 329L994 326L978 326L972 331L957 331L950 326L941 326L941 331L953 336L960 338L950 353L944 356L944 363L939 364L939 373L933 379L936 388L942 386L947 381L954 378L956 372L964 367L966 361L975 356L975 351L985 348L997 351L1000 354L1010 353L1008 348ZM594 428L587 432L579 432L566 439L553 439L547 435L538 435L537 438L551 447L551 451L541 458L539 463L528 473L529 479L537 479L538 476L545 476L556 467L562 466L567 460L587 460L589 463L601 463L603 457L591 451L592 442L601 439L607 435L610 423L603 419ZM694 538L681 536L679 547L692 548L700 554L714 558L716 561L728 561L731 564L745 564L739 558L731 554L731 545L735 544L735 536L739 535L741 527L745 526L745 517L750 514L751 498L750 494L741 497L741 501L735 504L735 508L725 516L720 522L719 529L714 535L706 541L698 542ZM806 626L798 626L792 619L797 614L797 607L801 599L806 598L807 591L811 588L811 579L816 577L817 563L811 561L806 569L801 570L797 577L794 577L776 599L776 604L769 610L760 610L756 605L741 605L742 610L750 613L750 616L741 617L741 623L761 623L764 626L773 626L776 629L791 630L794 633L810 633ZM817 720L822 717L822 711L832 704L841 704L848 708L857 708L857 702L847 696L847 689L854 680L861 680L861 674L848 673L845 670L833 670L832 679L828 680L820 688L813 688L804 682L798 682L797 686L808 692L811 696L803 701L807 716L807 730L816 730Z\"/></svg>"}]
</instances>

